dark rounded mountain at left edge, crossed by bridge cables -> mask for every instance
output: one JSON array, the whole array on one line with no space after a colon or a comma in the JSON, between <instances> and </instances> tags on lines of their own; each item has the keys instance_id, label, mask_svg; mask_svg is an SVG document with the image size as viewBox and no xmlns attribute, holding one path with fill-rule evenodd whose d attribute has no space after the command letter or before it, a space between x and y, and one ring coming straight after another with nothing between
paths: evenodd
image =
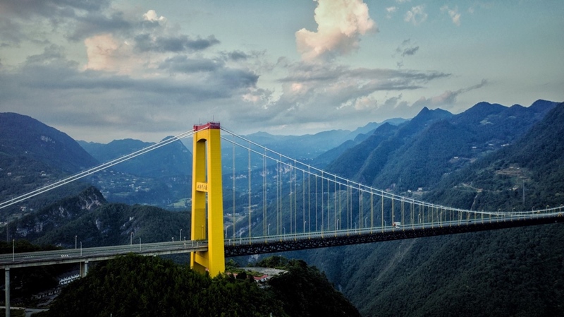
<instances>
[{"instance_id":1,"label":"dark rounded mountain at left edge, crossed by bridge cables","mask_svg":"<svg viewBox=\"0 0 564 317\"><path fill-rule=\"evenodd\" d=\"M69 174L97 165L73 138L30 116L0 113L0 202L8 201ZM18 205L0 210L0 221L71 196L85 184L68 184Z\"/></svg>"}]
</instances>

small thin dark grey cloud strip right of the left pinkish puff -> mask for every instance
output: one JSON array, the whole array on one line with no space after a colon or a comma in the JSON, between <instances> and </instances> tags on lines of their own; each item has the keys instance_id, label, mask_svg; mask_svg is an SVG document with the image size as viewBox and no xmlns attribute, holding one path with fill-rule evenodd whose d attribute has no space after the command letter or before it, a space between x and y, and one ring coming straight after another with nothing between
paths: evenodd
<instances>
[{"instance_id":1,"label":"small thin dark grey cloud strip right of the left pinkish puff","mask_svg":"<svg viewBox=\"0 0 564 317\"><path fill-rule=\"evenodd\" d=\"M219 40L214 35L206 39L197 37L194 40L187 35L155 37L149 33L142 33L135 36L135 48L140 52L196 52L214 44L219 44Z\"/></svg>"}]
</instances>

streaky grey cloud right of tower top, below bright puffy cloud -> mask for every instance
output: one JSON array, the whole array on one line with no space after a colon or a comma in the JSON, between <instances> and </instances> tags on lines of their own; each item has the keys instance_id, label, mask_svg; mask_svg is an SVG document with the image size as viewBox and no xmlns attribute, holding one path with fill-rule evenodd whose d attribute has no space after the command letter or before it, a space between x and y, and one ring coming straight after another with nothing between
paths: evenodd
<instances>
[{"instance_id":1,"label":"streaky grey cloud right of tower top, below bright puffy cloud","mask_svg":"<svg viewBox=\"0 0 564 317\"><path fill-rule=\"evenodd\" d=\"M393 100L383 102L390 99L384 95L418 90L431 80L450 76L433 71L350 68L307 61L281 65L288 76L278 80L282 85L279 97L249 95L246 97L248 105L241 112L233 113L234 119L242 123L260 122L270 129L278 126L335 128L353 125L360 117L384 120L394 109L398 110L396 106L402 107L399 110L408 110L408 114L412 112L407 102L399 102L397 98L393 105Z\"/></svg>"}]
</instances>

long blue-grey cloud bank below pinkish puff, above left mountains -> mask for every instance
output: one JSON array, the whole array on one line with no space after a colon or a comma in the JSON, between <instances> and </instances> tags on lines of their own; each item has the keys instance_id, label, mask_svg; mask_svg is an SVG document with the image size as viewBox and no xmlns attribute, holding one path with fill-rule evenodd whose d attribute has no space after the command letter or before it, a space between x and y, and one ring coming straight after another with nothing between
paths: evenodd
<instances>
[{"instance_id":1,"label":"long blue-grey cloud bank below pinkish puff, above left mountains","mask_svg":"<svg viewBox=\"0 0 564 317\"><path fill-rule=\"evenodd\" d=\"M176 66L178 71L182 61L190 63L185 57L165 65ZM242 96L256 90L258 76L252 71L221 63L213 68L202 64L210 63L192 61L192 68L175 76L168 75L170 69L157 69L161 73L150 77L81 71L58 47L51 47L30 56L18 71L0 73L0 82L6 83L0 87L0 108L30 114L86 140L101 141L104 136L98 133L112 135L104 141L150 133L162 138L187 131L190 124L186 121L195 122L199 117L233 117L231 112L240 111L238 104L245 104Z\"/></svg>"}]
</instances>

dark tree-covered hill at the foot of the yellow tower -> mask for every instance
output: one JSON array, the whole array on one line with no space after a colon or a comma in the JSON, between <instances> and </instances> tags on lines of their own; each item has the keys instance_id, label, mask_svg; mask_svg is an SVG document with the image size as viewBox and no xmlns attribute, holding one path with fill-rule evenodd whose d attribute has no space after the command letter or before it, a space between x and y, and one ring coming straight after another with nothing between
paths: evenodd
<instances>
[{"instance_id":1,"label":"dark tree-covered hill at the foot of the yellow tower","mask_svg":"<svg viewBox=\"0 0 564 317\"><path fill-rule=\"evenodd\" d=\"M243 273L210 277L159 257L121 256L94 266L37 316L360 316L317 269L294 260L283 269L259 285Z\"/></svg>"}]
</instances>

